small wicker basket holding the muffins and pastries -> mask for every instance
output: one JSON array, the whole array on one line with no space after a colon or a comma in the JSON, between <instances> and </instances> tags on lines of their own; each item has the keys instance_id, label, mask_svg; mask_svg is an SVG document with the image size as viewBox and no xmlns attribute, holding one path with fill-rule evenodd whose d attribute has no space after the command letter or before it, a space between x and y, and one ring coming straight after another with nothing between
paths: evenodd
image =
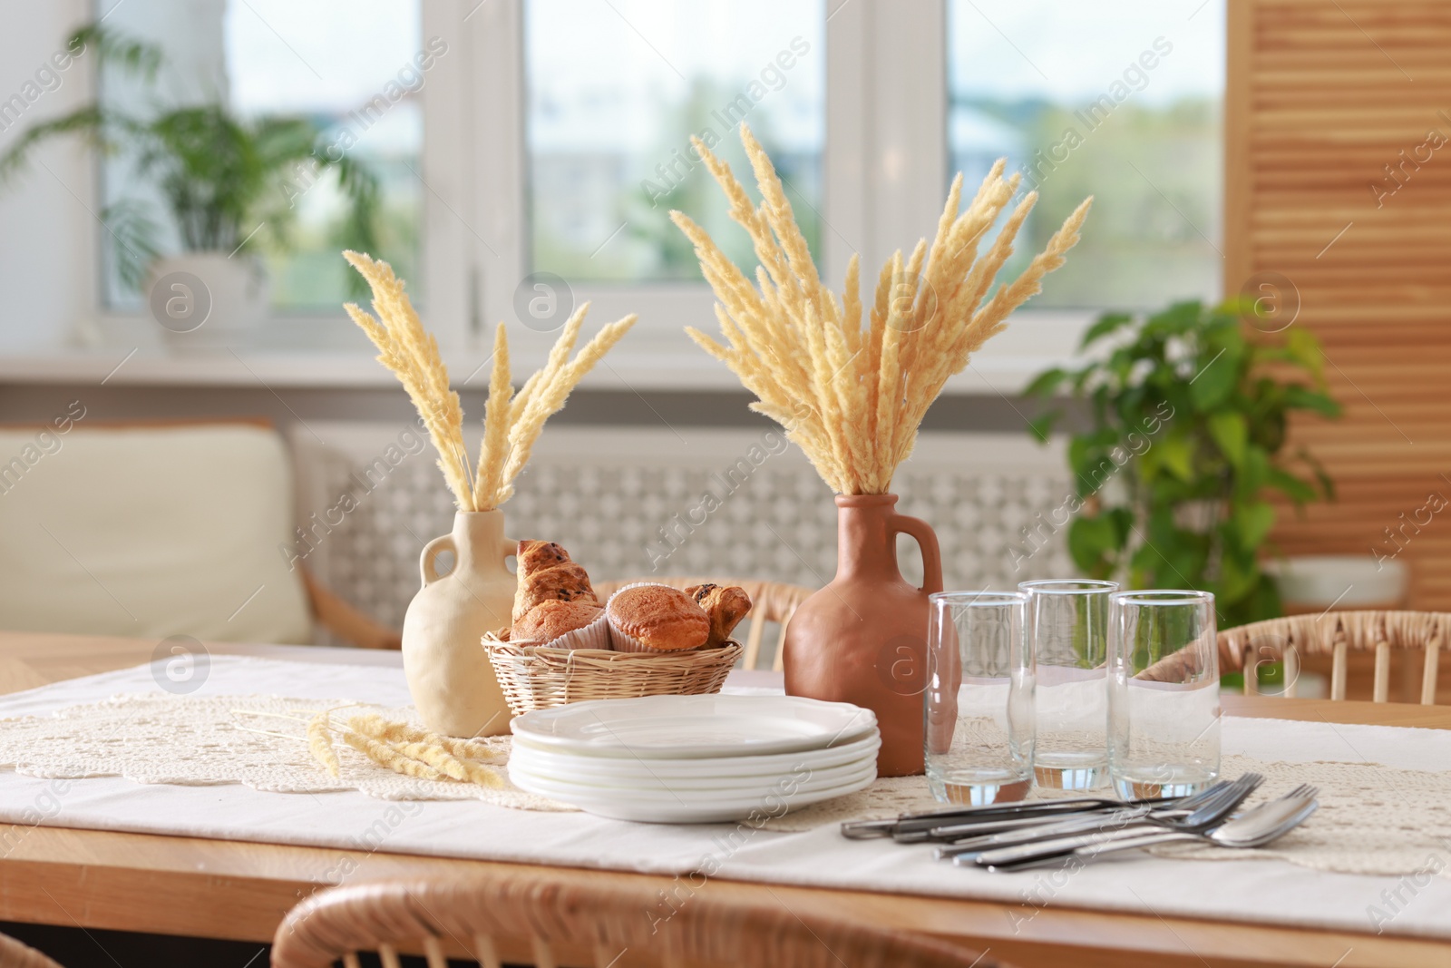
<instances>
[{"instance_id":1,"label":"small wicker basket holding the muffins and pastries","mask_svg":"<svg viewBox=\"0 0 1451 968\"><path fill-rule=\"evenodd\" d=\"M741 644L679 653L517 646L485 639L485 650L515 715L585 700L720 692Z\"/></svg>"}]
</instances>

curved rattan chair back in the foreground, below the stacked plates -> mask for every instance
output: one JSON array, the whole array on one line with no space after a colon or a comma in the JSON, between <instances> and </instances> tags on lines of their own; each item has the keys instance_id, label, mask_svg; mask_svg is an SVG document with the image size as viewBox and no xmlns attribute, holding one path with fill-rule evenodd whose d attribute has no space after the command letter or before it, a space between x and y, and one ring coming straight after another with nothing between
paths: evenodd
<instances>
[{"instance_id":1,"label":"curved rattan chair back in the foreground, below the stacked plates","mask_svg":"<svg viewBox=\"0 0 1451 968\"><path fill-rule=\"evenodd\" d=\"M274 968L324 968L399 951L428 968L472 958L483 968L559 965L791 965L792 968L990 968L997 962L934 939L859 923L798 917L766 897L727 901L696 888L669 901L654 884L588 882L567 872L383 881L331 888L302 901L277 927ZM673 914L672 914L673 911ZM628 958L622 955L628 952Z\"/></svg>"}]
</instances>

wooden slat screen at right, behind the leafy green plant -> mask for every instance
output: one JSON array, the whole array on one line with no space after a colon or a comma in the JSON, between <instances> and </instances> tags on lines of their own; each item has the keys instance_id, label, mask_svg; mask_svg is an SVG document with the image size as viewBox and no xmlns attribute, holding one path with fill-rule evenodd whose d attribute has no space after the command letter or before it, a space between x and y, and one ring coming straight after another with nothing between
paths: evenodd
<instances>
[{"instance_id":1,"label":"wooden slat screen at right, behind the leafy green plant","mask_svg":"<svg viewBox=\"0 0 1451 968\"><path fill-rule=\"evenodd\" d=\"M1275 537L1397 554L1390 528L1410 607L1451 610L1451 1L1229 0L1228 77L1225 287L1297 293L1345 406L1290 444L1339 502Z\"/></svg>"}]
</instances>

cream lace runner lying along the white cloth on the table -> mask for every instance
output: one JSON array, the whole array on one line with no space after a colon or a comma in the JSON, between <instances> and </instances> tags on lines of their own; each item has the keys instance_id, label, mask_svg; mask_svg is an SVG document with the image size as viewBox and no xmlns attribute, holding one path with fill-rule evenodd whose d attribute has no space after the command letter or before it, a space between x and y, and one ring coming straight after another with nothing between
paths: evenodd
<instances>
[{"instance_id":1,"label":"cream lace runner lying along the white cloth on the table","mask_svg":"<svg viewBox=\"0 0 1451 968\"><path fill-rule=\"evenodd\" d=\"M506 787L432 782L395 774L338 745L341 772L329 776L302 739L305 720L348 700L276 695L119 695L73 705L55 715L0 720L0 768L42 778L125 776L139 784L206 787L242 784L277 794L355 789L392 801L479 800L535 811L572 811ZM379 708L414 721L411 708ZM1287 727L1274 720L1261 729ZM1405 730L1407 736L1425 730ZM506 753L509 737L493 740ZM1265 784L1251 800L1277 797L1304 782L1320 788L1320 808L1270 848L1225 850L1199 845L1155 848L1181 859L1233 861L1274 856L1318 871L1403 877L1451 877L1451 772L1377 762L1283 762L1228 755L1223 774L1255 771ZM844 820L889 817L942 805L921 776L884 778L847 797L775 817L762 829L814 830Z\"/></svg>"}]
</instances>

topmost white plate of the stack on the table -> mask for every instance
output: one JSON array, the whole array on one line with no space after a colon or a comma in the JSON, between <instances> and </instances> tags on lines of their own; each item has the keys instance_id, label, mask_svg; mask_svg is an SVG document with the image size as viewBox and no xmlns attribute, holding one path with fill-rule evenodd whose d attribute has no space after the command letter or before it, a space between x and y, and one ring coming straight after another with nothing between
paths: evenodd
<instances>
[{"instance_id":1,"label":"topmost white plate of the stack on the table","mask_svg":"<svg viewBox=\"0 0 1451 968\"><path fill-rule=\"evenodd\" d=\"M534 710L511 729L535 746L585 756L702 759L842 746L875 730L876 717L794 695L647 695Z\"/></svg>"}]
</instances>

